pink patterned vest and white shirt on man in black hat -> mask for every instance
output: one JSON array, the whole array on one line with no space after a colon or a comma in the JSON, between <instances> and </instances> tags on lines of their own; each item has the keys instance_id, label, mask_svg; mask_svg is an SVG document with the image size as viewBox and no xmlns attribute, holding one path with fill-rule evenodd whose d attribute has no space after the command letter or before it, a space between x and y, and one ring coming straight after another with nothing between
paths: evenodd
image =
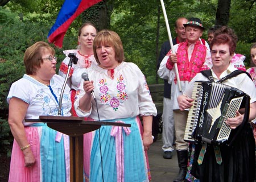
<instances>
[{"instance_id":1,"label":"pink patterned vest and white shirt on man in black hat","mask_svg":"<svg viewBox=\"0 0 256 182\"><path fill-rule=\"evenodd\" d=\"M209 48L204 46L200 40L198 40L195 44L190 44L189 46L188 41L176 44L173 47L173 51L176 53L178 60L177 68L179 70L181 92L177 85L174 64L170 61L171 50L161 62L158 74L161 75L161 73L164 72L173 72L173 74L170 74L172 76L167 78L167 80L169 84L172 85L171 101L173 102L173 109L175 110L179 109L177 97L180 94L183 94L185 87L196 75L196 73L212 67L212 59L210 57Z\"/></svg>"}]
</instances>

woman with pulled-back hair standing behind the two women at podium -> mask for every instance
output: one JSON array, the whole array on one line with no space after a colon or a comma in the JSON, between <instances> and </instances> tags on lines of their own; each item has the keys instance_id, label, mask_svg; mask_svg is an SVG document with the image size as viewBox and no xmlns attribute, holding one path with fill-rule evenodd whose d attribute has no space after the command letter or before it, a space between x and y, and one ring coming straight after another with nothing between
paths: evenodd
<instances>
[{"instance_id":1,"label":"woman with pulled-back hair standing behind the two women at podium","mask_svg":"<svg viewBox=\"0 0 256 182\"><path fill-rule=\"evenodd\" d=\"M77 116L76 111L73 107L75 101L76 91L80 86L82 69L89 68L90 65L96 63L96 60L93 56L93 40L97 34L97 28L94 24L90 22L85 22L79 28L78 42L79 46L77 49L70 49L63 51L66 55L65 59L60 65L59 75L66 77L68 71L68 64L70 57L69 53L75 53L78 59L77 64L73 64L71 72L69 73L68 86L71 88L71 101L72 101L72 115Z\"/></svg>"}]
</instances>

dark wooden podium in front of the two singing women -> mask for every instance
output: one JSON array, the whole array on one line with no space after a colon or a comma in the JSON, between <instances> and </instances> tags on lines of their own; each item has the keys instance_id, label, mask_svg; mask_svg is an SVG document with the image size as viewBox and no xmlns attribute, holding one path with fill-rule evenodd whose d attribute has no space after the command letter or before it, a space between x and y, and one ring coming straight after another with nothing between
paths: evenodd
<instances>
[{"instance_id":1,"label":"dark wooden podium in front of the two singing women","mask_svg":"<svg viewBox=\"0 0 256 182\"><path fill-rule=\"evenodd\" d=\"M44 122L53 130L69 135L70 181L82 182L84 179L84 134L99 129L102 125L125 126L118 122L85 121L82 117L63 117L40 115L39 119L25 119L26 122Z\"/></svg>"}]
</instances>

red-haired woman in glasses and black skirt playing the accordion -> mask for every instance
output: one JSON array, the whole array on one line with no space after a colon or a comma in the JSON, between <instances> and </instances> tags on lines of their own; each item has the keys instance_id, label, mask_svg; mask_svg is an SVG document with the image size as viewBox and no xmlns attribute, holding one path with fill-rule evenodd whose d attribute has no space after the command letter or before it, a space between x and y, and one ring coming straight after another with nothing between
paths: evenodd
<instances>
[{"instance_id":1,"label":"red-haired woman in glasses and black skirt playing the accordion","mask_svg":"<svg viewBox=\"0 0 256 182\"><path fill-rule=\"evenodd\" d=\"M220 145L214 144L214 142L210 144L196 143L195 150L193 151L194 155L192 155L193 162L189 166L187 177L194 176L189 181L195 179L200 181L254 181L255 143L249 121L256 117L255 86L245 71L241 71L240 75L229 77L231 73L233 74L237 71L237 68L230 61L236 50L236 41L232 36L228 34L214 36L210 46L213 66L208 75L204 76L202 72L197 73L185 89L183 95L177 98L180 110L188 109L192 106L193 99L191 97L195 81L223 81L222 84L242 90L250 96L250 111L247 113L249 114L249 119L243 119L246 113L245 108L242 107L236 111L236 116L225 121L232 131L238 131L237 137L232 138L234 140L229 145L225 142ZM217 93L213 97L218 97ZM213 119L213 121L215 120ZM216 123L214 122L214 124Z\"/></svg>"}]
</instances>

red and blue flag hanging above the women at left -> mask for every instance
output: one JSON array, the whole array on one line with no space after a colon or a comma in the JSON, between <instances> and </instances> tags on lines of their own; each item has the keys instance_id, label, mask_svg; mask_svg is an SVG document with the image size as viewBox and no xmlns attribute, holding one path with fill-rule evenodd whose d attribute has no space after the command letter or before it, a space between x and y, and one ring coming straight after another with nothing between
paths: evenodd
<instances>
[{"instance_id":1,"label":"red and blue flag hanging above the women at left","mask_svg":"<svg viewBox=\"0 0 256 182\"><path fill-rule=\"evenodd\" d=\"M90 6L95 5L102 0L65 0L57 16L55 24L53 24L47 36L48 42L55 44L57 47L62 47L63 39L68 27L73 20L76 19L83 11Z\"/></svg>"}]
</instances>

